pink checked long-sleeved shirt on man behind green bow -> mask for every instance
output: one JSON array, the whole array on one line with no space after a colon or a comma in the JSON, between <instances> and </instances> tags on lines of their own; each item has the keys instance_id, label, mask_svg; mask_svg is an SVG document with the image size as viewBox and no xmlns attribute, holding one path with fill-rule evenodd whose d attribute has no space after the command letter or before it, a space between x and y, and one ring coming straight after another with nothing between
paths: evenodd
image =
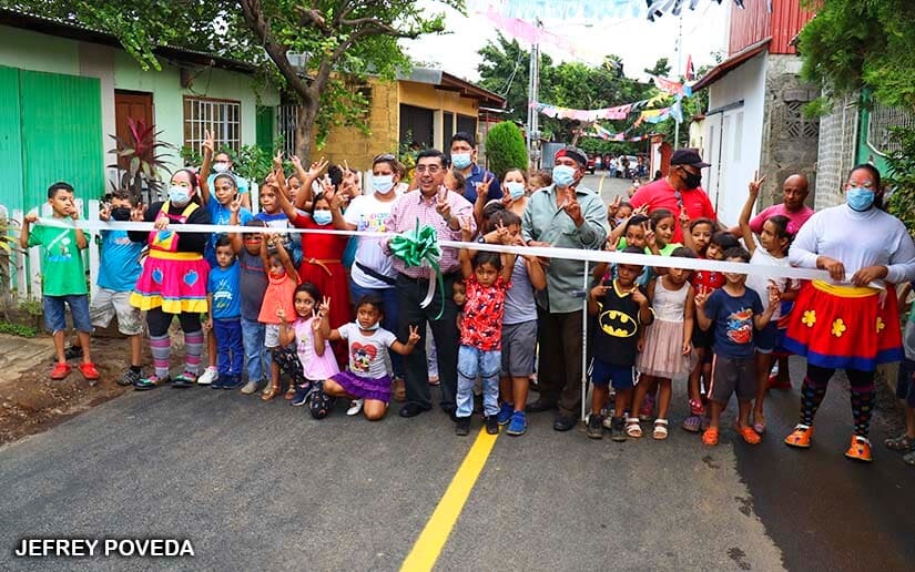
<instances>
[{"instance_id":1,"label":"pink checked long-sleeved shirt on man behind green bow","mask_svg":"<svg viewBox=\"0 0 915 572\"><path fill-rule=\"evenodd\" d=\"M451 206L451 216L455 216L458 219L469 216L470 228L476 232L477 224L474 222L472 205L470 205L466 198L457 193L449 191L446 196L448 204ZM387 221L385 222L387 232L399 234L407 231L414 231L416 229L416 221L418 219L420 227L426 225L435 227L439 241L460 241L460 229L458 228L457 231L453 231L448 227L448 224L435 210L436 201L436 195L426 198L423 196L421 191L414 191L400 195L397 203L394 205L394 208L390 210L390 215L388 215ZM388 247L387 241L384 243L383 251L385 254L390 255L390 248ZM395 270L405 274L410 278L429 277L429 268L425 266L406 267L404 261L397 257L392 259L392 266L394 266ZM439 261L439 268L441 268L441 272L444 274L448 274L457 270L459 267L460 264L458 262L457 249L441 248L441 259Z\"/></svg>"}]
</instances>

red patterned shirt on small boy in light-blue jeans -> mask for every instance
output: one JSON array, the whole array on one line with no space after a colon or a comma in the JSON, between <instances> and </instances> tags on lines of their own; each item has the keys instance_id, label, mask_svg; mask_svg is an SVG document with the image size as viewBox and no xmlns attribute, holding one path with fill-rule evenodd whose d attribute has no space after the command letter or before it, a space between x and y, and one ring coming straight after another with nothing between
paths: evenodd
<instances>
[{"instance_id":1,"label":"red patterned shirt on small boy in light-blue jeans","mask_svg":"<svg viewBox=\"0 0 915 572\"><path fill-rule=\"evenodd\" d=\"M481 286L471 275L464 279L464 287L467 302L460 323L460 344L484 351L501 349L505 295L511 283L499 275L492 286Z\"/></svg>"}]
</instances>

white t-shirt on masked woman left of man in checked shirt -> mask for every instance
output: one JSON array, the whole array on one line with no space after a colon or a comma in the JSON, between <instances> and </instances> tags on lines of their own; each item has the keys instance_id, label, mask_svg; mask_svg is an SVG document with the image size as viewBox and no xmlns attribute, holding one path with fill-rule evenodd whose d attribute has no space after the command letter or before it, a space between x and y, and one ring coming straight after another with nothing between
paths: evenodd
<instances>
[{"instance_id":1,"label":"white t-shirt on masked woman left of man in checked shirt","mask_svg":"<svg viewBox=\"0 0 915 572\"><path fill-rule=\"evenodd\" d=\"M356 225L356 231L384 233L387 231L385 221L390 214L397 201L388 201L387 203L378 201L375 193L370 195L359 195L353 200L349 207L343 215L343 218ZM369 236L360 236L356 246L356 262L367 268L372 268L378 274L389 276L392 278L397 276L397 272L390 264L390 257L385 256L382 252L383 237L372 238ZM356 264L352 268L353 282L363 288L392 288L389 284L385 284L378 278L374 278L363 272Z\"/></svg>"}]
</instances>

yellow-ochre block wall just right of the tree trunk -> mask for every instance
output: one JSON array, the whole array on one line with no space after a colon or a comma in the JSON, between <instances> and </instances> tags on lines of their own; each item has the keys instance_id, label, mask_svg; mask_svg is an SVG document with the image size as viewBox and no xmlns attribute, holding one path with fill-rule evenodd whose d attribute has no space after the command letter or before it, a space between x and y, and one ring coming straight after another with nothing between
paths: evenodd
<instances>
[{"instance_id":1,"label":"yellow-ochre block wall just right of the tree trunk","mask_svg":"<svg viewBox=\"0 0 915 572\"><path fill-rule=\"evenodd\" d=\"M397 153L400 122L400 108L397 104L398 86L396 82L382 82L370 79L372 104L368 115L370 135L355 127L335 127L327 136L327 144L322 150L313 151L314 159L325 156L332 164L350 167L372 168L372 160L382 153Z\"/></svg>"}]
</instances>

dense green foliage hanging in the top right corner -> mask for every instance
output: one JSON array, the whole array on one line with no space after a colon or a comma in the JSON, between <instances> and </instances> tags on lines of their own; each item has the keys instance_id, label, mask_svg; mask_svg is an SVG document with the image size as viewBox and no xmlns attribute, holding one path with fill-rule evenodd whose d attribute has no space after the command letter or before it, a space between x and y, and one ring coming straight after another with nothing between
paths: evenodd
<instances>
[{"instance_id":1,"label":"dense green foliage hanging in the top right corner","mask_svg":"<svg viewBox=\"0 0 915 572\"><path fill-rule=\"evenodd\" d=\"M801 75L833 95L867 88L891 106L915 108L915 10L911 0L809 1L816 17L801 31Z\"/></svg>"}]
</instances>

